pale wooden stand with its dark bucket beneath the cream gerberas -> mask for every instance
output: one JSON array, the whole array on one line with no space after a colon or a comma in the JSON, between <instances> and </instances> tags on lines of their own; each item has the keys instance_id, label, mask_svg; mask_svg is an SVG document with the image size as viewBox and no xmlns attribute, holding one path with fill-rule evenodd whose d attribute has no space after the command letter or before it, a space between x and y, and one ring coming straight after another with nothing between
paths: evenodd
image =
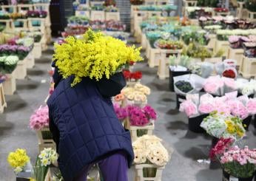
<instances>
[{"instance_id":1,"label":"pale wooden stand with its dark bucket beneath the cream gerberas","mask_svg":"<svg viewBox=\"0 0 256 181\"><path fill-rule=\"evenodd\" d=\"M135 181L160 181L164 168L164 166L153 164L135 165Z\"/></svg>"}]
</instances>

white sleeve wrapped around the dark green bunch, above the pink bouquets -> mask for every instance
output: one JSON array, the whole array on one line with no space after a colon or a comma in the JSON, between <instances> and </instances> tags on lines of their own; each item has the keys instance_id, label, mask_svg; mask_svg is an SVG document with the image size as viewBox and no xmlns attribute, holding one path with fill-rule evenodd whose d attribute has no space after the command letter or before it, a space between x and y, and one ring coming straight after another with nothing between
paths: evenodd
<instances>
[{"instance_id":1,"label":"white sleeve wrapped around the dark green bunch, above the pink bouquets","mask_svg":"<svg viewBox=\"0 0 256 181\"><path fill-rule=\"evenodd\" d=\"M181 75L181 76L176 76L173 78L174 80L174 89L175 93L178 95L184 95L186 96L187 94L196 94L203 89L203 83L204 83L204 78L201 78L199 75L191 74L191 75ZM189 92L183 92L181 89L178 89L176 86L176 83L178 81L186 81L189 82L192 86L192 90Z\"/></svg>"}]
</instances>

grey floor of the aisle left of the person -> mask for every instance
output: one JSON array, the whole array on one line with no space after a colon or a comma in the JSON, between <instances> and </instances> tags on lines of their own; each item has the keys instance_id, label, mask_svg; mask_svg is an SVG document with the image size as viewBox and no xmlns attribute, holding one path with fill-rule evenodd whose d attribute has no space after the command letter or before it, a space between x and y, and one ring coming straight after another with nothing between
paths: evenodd
<instances>
[{"instance_id":1,"label":"grey floor of the aisle left of the person","mask_svg":"<svg viewBox=\"0 0 256 181\"><path fill-rule=\"evenodd\" d=\"M50 76L47 70L53 55L53 47L36 59L36 66L27 71L25 80L17 81L15 95L6 96L7 109L0 115L0 180L13 181L15 175L7 164L7 154L16 148L26 148L27 154L35 162L38 154L36 132L29 129L29 119L33 111L44 103L49 89ZM46 83L41 83L41 81Z\"/></svg>"}]
</instances>

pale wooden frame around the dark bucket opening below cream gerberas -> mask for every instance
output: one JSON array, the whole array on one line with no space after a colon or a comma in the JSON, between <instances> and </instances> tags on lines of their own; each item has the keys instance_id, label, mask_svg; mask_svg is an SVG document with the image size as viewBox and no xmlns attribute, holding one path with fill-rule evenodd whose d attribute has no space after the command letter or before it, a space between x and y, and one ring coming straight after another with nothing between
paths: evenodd
<instances>
[{"instance_id":1,"label":"pale wooden frame around the dark bucket opening below cream gerberas","mask_svg":"<svg viewBox=\"0 0 256 181\"><path fill-rule=\"evenodd\" d=\"M156 168L155 177L144 177L144 168ZM162 173L165 166L158 166L153 164L139 164L135 165L135 181L161 181Z\"/></svg>"}]
</instances>

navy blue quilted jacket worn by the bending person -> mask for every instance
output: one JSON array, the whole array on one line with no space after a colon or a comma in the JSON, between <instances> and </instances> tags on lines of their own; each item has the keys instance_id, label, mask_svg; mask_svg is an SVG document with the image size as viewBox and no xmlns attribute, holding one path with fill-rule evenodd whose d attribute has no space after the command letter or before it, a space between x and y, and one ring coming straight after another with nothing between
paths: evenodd
<instances>
[{"instance_id":1,"label":"navy blue quilted jacket worn by the bending person","mask_svg":"<svg viewBox=\"0 0 256 181\"><path fill-rule=\"evenodd\" d=\"M64 180L71 181L85 165L118 150L133 160L129 132L115 115L110 98L98 92L95 82L84 78L74 87L73 78L58 83L47 104L50 122L59 131L58 166Z\"/></svg>"}]
</instances>

